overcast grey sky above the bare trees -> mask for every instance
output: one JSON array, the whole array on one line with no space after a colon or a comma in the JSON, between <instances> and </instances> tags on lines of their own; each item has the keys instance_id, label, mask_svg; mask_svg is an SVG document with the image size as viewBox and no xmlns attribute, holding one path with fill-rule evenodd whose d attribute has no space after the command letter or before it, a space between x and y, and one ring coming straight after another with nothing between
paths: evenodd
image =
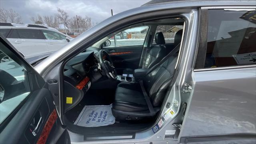
<instances>
[{"instance_id":1,"label":"overcast grey sky above the bare trees","mask_svg":"<svg viewBox=\"0 0 256 144\"><path fill-rule=\"evenodd\" d=\"M20 16L23 23L32 23L30 17L53 15L57 8L65 10L69 17L76 15L89 16L93 24L131 8L136 8L149 0L0 0L0 8L12 8Z\"/></svg>"}]
</instances>

